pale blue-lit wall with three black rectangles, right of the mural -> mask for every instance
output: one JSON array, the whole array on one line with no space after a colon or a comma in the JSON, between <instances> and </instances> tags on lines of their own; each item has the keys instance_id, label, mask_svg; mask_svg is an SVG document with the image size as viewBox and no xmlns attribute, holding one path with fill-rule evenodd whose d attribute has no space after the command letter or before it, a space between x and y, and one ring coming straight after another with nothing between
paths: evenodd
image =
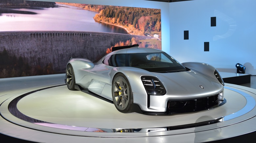
<instances>
[{"instance_id":1,"label":"pale blue-lit wall with three black rectangles, right of the mural","mask_svg":"<svg viewBox=\"0 0 256 143\"><path fill-rule=\"evenodd\" d=\"M211 27L211 17L216 17L216 27ZM189 40L183 40L184 30L189 30ZM229 72L240 63L245 73L256 75L255 41L255 0L170 3L170 54L180 62L205 62ZM209 42L208 52L204 42Z\"/></svg>"}]
</instances>

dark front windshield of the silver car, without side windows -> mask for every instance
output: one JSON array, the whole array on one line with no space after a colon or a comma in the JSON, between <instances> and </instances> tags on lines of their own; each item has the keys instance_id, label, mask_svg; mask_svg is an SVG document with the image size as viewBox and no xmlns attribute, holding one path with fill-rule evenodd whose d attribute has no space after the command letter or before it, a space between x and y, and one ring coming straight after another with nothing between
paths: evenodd
<instances>
[{"instance_id":1,"label":"dark front windshield of the silver car, without side windows","mask_svg":"<svg viewBox=\"0 0 256 143\"><path fill-rule=\"evenodd\" d=\"M187 71L179 62L166 53L128 54L129 67L136 67L151 72Z\"/></svg>"}]
</instances>

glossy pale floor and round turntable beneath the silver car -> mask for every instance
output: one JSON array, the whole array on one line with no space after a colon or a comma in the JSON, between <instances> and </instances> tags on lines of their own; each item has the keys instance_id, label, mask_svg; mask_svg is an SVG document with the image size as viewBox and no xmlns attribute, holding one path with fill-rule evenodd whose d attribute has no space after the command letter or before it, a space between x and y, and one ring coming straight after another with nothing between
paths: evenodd
<instances>
[{"instance_id":1,"label":"glossy pale floor and round turntable beneath the silver car","mask_svg":"<svg viewBox=\"0 0 256 143\"><path fill-rule=\"evenodd\" d=\"M0 79L0 133L35 142L221 140L256 130L256 89L248 88L254 77L250 85L226 84L227 103L218 108L174 116L120 113L112 103L68 90L62 74Z\"/></svg>"}]
</instances>

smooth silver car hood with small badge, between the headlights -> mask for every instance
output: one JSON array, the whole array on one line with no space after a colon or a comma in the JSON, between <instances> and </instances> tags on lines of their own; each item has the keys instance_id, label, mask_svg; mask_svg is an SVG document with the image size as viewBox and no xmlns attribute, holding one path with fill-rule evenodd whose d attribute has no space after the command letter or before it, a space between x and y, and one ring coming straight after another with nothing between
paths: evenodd
<instances>
[{"instance_id":1,"label":"smooth silver car hood with small badge, between the headlights","mask_svg":"<svg viewBox=\"0 0 256 143\"><path fill-rule=\"evenodd\" d=\"M220 93L223 86L217 79L193 71L154 73L166 89L166 95L188 99L209 97ZM214 73L212 73L214 74Z\"/></svg>"}]
</instances>

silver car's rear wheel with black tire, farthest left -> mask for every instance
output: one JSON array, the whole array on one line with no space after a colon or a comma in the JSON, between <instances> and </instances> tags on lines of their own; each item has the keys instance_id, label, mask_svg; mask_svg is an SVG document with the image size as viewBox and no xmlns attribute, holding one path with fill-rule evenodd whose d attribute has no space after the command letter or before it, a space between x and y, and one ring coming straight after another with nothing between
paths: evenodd
<instances>
[{"instance_id":1,"label":"silver car's rear wheel with black tire, farthest left","mask_svg":"<svg viewBox=\"0 0 256 143\"><path fill-rule=\"evenodd\" d=\"M69 90L75 90L75 73L71 64L66 68L66 83Z\"/></svg>"}]
</instances>

